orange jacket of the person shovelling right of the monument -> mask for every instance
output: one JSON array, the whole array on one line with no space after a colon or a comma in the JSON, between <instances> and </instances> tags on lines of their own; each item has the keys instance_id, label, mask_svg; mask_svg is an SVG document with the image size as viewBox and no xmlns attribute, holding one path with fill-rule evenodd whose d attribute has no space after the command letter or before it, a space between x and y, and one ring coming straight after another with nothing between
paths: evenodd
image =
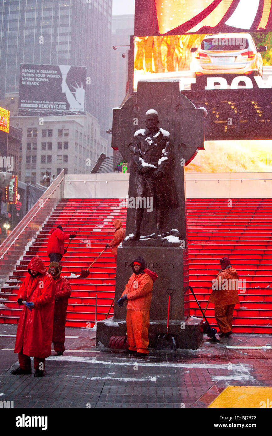
<instances>
[{"instance_id":1,"label":"orange jacket of the person shovelling right of the monument","mask_svg":"<svg viewBox=\"0 0 272 436\"><path fill-rule=\"evenodd\" d=\"M215 289L210 295L210 303L215 306L224 306L228 304L240 303L238 297L239 277L237 271L232 266L222 269L216 279L213 280Z\"/></svg>"}]
</instances>

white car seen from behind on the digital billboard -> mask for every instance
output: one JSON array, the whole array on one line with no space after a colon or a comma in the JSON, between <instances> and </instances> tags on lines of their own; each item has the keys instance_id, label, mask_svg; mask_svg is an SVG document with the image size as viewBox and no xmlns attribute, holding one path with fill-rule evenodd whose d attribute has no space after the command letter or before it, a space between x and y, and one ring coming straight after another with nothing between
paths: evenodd
<instances>
[{"instance_id":1,"label":"white car seen from behind on the digital billboard","mask_svg":"<svg viewBox=\"0 0 272 436\"><path fill-rule=\"evenodd\" d=\"M199 47L193 47L190 71L196 83L203 77L230 75L261 76L263 70L262 51L267 47L256 47L248 33L226 33L205 35Z\"/></svg>"}]
</instances>

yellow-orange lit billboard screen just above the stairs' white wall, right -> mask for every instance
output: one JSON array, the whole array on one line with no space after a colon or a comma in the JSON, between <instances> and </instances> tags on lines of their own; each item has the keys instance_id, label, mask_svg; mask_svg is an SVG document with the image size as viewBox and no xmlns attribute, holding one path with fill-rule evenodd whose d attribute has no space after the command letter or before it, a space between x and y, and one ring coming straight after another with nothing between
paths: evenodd
<instances>
[{"instance_id":1,"label":"yellow-orange lit billboard screen just above the stairs' white wall, right","mask_svg":"<svg viewBox=\"0 0 272 436\"><path fill-rule=\"evenodd\" d=\"M271 173L271 141L205 141L187 173Z\"/></svg>"}]
</instances>

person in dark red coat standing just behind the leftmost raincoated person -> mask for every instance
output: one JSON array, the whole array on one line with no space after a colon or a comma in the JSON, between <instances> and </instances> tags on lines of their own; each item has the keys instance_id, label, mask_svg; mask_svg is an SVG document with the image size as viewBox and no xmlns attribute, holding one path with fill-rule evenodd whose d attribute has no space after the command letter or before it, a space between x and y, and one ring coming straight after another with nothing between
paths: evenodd
<instances>
[{"instance_id":1,"label":"person in dark red coat standing just behind the leftmost raincoated person","mask_svg":"<svg viewBox=\"0 0 272 436\"><path fill-rule=\"evenodd\" d=\"M56 284L55 307L54 307L54 329L53 339L54 350L58 356L65 351L65 322L68 306L68 299L71 295L71 285L65 277L61 277L62 266L59 262L51 262L48 268L49 274Z\"/></svg>"}]
</instances>

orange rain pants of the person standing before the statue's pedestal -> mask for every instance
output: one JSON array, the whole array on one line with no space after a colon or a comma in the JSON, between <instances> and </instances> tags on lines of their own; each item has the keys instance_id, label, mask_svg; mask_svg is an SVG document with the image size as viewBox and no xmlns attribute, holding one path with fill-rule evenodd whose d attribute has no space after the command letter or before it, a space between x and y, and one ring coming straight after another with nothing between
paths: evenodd
<instances>
[{"instance_id":1,"label":"orange rain pants of the person standing before the statue's pedestal","mask_svg":"<svg viewBox=\"0 0 272 436\"><path fill-rule=\"evenodd\" d=\"M127 341L129 349L148 354L149 310L127 309Z\"/></svg>"}]
</instances>

